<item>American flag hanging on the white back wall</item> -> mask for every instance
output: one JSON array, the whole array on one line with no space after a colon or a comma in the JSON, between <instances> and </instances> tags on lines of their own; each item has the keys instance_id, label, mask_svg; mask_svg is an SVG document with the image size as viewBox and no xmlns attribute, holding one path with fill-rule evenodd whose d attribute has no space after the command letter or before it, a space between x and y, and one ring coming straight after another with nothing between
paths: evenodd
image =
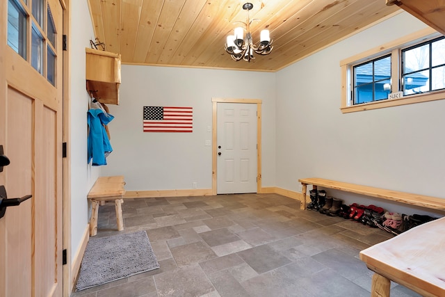
<instances>
[{"instance_id":1,"label":"American flag hanging on the white back wall","mask_svg":"<svg viewBox=\"0 0 445 297\"><path fill-rule=\"evenodd\" d=\"M144 132L193 132L193 107L144 106Z\"/></svg>"}]
</instances>

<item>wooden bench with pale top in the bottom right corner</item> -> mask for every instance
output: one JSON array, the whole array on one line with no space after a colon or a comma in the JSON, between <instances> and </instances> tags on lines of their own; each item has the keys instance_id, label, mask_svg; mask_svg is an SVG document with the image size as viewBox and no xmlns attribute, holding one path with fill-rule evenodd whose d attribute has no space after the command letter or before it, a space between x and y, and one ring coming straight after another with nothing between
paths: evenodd
<instances>
[{"instance_id":1,"label":"wooden bench with pale top in the bottom right corner","mask_svg":"<svg viewBox=\"0 0 445 297\"><path fill-rule=\"evenodd\" d=\"M360 259L374 271L371 296L388 297L391 282L422 296L445 296L445 217L366 248Z\"/></svg>"}]
</instances>

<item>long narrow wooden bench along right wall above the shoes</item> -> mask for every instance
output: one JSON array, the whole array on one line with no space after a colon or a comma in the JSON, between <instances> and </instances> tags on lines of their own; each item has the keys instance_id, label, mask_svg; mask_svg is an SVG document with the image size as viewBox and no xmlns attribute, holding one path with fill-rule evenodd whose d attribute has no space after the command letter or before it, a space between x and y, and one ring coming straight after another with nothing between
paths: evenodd
<instances>
[{"instance_id":1,"label":"long narrow wooden bench along right wall above the shoes","mask_svg":"<svg viewBox=\"0 0 445 297\"><path fill-rule=\"evenodd\" d=\"M428 209L437 209L440 211L445 211L445 199L442 198L435 198L425 195L418 195L418 194L405 193L399 191L391 191L391 190L386 190L384 188L374 188L373 186L348 184L346 182L337 182L330 179L321 179L314 177L298 179L298 182L302 184L302 200L300 206L301 209L306 209L307 185L312 184L312 188L314 188L315 190L317 189L317 186L321 186L323 188L334 188L335 190L339 191L357 193L360 195L366 195L370 197L381 198L405 204L411 204L417 207L426 207Z\"/></svg>"}]
</instances>

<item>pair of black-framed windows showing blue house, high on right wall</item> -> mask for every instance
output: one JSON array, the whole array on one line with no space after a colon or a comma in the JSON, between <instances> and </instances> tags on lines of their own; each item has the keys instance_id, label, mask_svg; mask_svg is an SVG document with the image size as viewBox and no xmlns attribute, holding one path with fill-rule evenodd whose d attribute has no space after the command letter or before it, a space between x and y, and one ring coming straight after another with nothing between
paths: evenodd
<instances>
[{"instance_id":1,"label":"pair of black-framed windows showing blue house, high on right wall","mask_svg":"<svg viewBox=\"0 0 445 297\"><path fill-rule=\"evenodd\" d=\"M409 47L401 45L388 49L380 56L375 53L350 63L346 69L350 69L350 72L344 72L344 75L350 75L347 79L350 90L346 95L348 98L343 101L348 104L343 107L445 90L445 37L416 45L411 42ZM390 96L395 93L400 95ZM404 103L394 105L401 104Z\"/></svg>"}]
</instances>

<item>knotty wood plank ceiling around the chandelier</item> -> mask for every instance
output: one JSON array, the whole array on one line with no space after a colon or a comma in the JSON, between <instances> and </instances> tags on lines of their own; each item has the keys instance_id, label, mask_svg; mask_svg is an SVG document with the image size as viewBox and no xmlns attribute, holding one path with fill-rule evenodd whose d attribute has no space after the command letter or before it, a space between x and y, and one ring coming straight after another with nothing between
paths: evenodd
<instances>
[{"instance_id":1,"label":"knotty wood plank ceiling around the chandelier","mask_svg":"<svg viewBox=\"0 0 445 297\"><path fill-rule=\"evenodd\" d=\"M378 22L398 6L385 0L252 0L254 42L270 30L273 51L250 63L225 52L247 13L240 0L88 0L95 35L124 64L277 71Z\"/></svg>"}]
</instances>

